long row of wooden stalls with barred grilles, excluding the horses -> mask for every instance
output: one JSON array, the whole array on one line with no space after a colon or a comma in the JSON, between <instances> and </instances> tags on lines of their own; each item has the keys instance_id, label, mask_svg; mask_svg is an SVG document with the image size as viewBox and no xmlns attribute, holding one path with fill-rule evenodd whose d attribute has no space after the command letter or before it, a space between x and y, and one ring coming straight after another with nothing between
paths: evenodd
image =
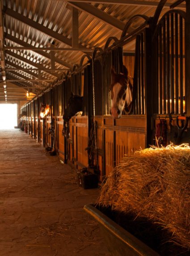
<instances>
[{"instance_id":1,"label":"long row of wooden stalls with barred grilles, excluding the horses","mask_svg":"<svg viewBox=\"0 0 190 256\"><path fill-rule=\"evenodd\" d=\"M153 18L132 17L120 39L108 38L104 49L85 54L63 79L26 104L28 133L76 169L95 165L101 181L136 150L188 142L189 26L186 13L176 8L160 18L161 2ZM136 20L139 27L128 33ZM110 86L123 65L132 81L129 102L113 118ZM82 98L82 110L67 119L72 93ZM39 119L42 104L50 112Z\"/></svg>"}]
</instances>

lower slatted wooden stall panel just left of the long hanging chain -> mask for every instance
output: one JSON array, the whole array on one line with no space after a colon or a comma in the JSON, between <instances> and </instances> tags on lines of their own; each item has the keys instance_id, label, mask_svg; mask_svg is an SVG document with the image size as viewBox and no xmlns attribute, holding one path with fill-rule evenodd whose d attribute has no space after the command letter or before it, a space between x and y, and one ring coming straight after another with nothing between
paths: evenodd
<instances>
[{"instance_id":1,"label":"lower slatted wooden stall panel just left of the long hanging chain","mask_svg":"<svg viewBox=\"0 0 190 256\"><path fill-rule=\"evenodd\" d=\"M77 127L77 162L88 166L88 127Z\"/></svg>"}]
</instances>

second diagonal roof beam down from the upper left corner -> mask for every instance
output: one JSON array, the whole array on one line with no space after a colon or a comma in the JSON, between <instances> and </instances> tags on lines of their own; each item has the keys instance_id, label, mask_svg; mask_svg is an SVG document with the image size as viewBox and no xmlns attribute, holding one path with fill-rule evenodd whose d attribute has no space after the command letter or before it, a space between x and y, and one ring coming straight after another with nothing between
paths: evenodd
<instances>
[{"instance_id":1,"label":"second diagonal roof beam down from the upper left corner","mask_svg":"<svg viewBox=\"0 0 190 256\"><path fill-rule=\"evenodd\" d=\"M30 44L24 42L23 40L20 40L20 39L16 38L16 37L13 36L13 35L6 34L6 35L5 35L5 38L8 39L8 40L11 40L11 41L13 41L13 42L15 42L16 44L20 44L20 45L22 45L22 46L24 46L24 47L31 47ZM33 48L33 47L31 47L31 48ZM33 49L35 49L35 48L36 48L36 47L34 47ZM44 51L42 51L42 50L36 51L36 49L35 49L35 50L33 50L33 49L32 49L32 51L34 51L34 52L36 52L36 53L42 55L43 57L46 57L47 59L51 59L51 54L50 54L50 53L46 53L46 52L44 52ZM23 50L24 50L24 48L23 48ZM63 60L61 60L61 59L59 59L59 58L57 58L57 57L55 57L55 62L57 62L57 63L59 63L59 64L61 64L61 65L63 65L63 66L66 66L66 67L72 69L72 65L71 65L71 64L69 64L68 62L65 62L65 61L63 61Z\"/></svg>"}]
</instances>

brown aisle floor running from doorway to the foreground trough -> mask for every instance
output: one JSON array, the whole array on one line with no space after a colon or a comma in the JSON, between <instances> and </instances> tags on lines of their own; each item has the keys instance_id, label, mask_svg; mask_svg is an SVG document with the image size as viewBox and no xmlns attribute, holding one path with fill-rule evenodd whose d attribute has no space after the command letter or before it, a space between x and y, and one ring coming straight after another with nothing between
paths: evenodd
<instances>
[{"instance_id":1,"label":"brown aisle floor running from doorway to the foreground trough","mask_svg":"<svg viewBox=\"0 0 190 256\"><path fill-rule=\"evenodd\" d=\"M98 189L19 130L0 130L0 256L108 256L82 209Z\"/></svg>"}]
</instances>

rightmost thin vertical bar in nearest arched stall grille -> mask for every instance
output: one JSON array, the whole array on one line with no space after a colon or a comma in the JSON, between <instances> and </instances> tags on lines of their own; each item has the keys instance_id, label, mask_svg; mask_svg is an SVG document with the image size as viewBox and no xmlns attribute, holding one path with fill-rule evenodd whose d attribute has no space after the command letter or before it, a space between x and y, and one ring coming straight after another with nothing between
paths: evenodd
<instances>
[{"instance_id":1,"label":"rightmost thin vertical bar in nearest arched stall grille","mask_svg":"<svg viewBox=\"0 0 190 256\"><path fill-rule=\"evenodd\" d=\"M179 18L179 45L180 45L180 56L179 56L179 84L180 84L180 114L183 113L183 18Z\"/></svg>"}]
</instances>

